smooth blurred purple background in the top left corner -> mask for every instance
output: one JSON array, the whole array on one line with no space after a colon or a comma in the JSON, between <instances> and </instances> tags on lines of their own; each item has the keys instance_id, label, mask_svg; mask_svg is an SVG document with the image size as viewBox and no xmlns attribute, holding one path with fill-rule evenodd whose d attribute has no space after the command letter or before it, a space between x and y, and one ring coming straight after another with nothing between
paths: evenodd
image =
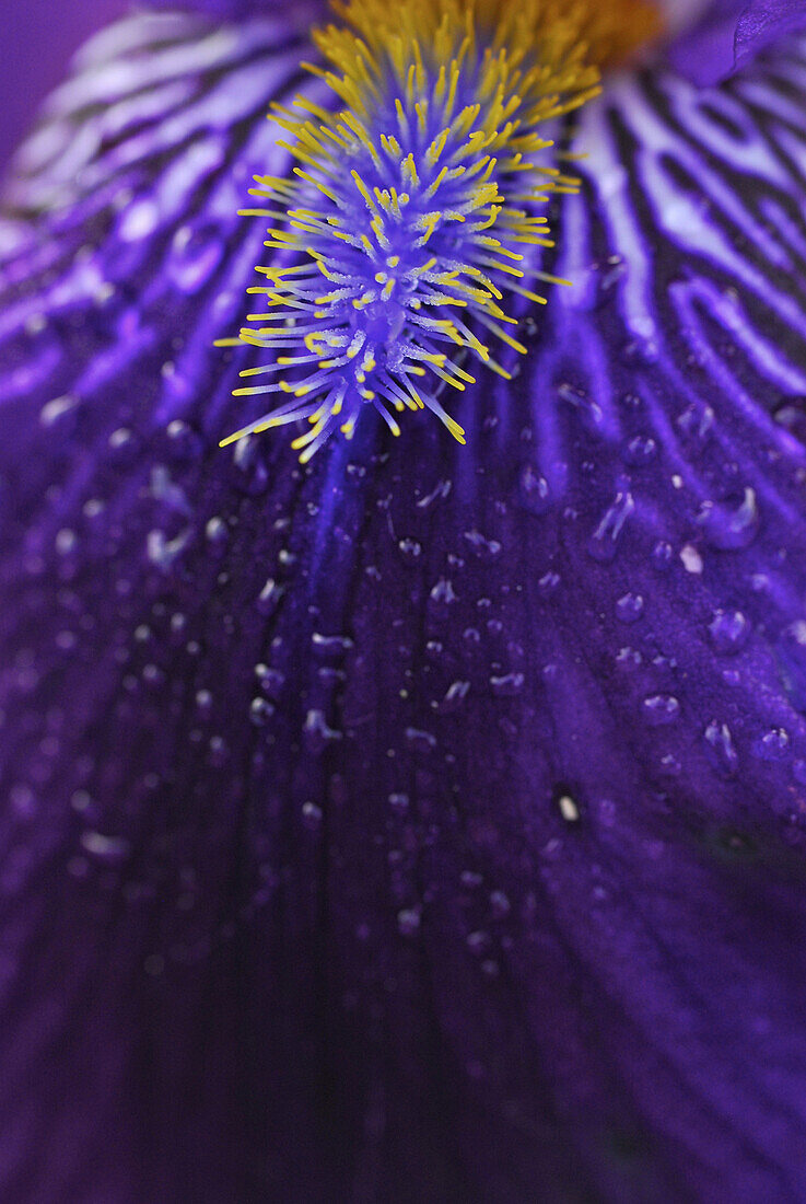
<instances>
[{"instance_id":1,"label":"smooth blurred purple background in the top left corner","mask_svg":"<svg viewBox=\"0 0 806 1204\"><path fill-rule=\"evenodd\" d=\"M71 55L130 7L131 0L0 0L0 171Z\"/></svg>"}]
</instances>

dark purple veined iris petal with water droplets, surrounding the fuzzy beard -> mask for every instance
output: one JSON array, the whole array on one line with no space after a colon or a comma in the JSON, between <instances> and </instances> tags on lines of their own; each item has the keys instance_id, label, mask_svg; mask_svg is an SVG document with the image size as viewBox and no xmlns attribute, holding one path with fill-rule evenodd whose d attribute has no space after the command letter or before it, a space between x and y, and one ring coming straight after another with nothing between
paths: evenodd
<instances>
[{"instance_id":1,"label":"dark purple veined iris petal with water droplets, surrounding the fuzzy beard","mask_svg":"<svg viewBox=\"0 0 806 1204\"><path fill-rule=\"evenodd\" d=\"M344 108L343 17L132 12L19 150L4 1202L806 1197L805 6L599 10L629 61L538 128L570 287L500 373L454 340L466 445L393 390L399 437L219 445L290 261L265 116Z\"/></svg>"}]
</instances>

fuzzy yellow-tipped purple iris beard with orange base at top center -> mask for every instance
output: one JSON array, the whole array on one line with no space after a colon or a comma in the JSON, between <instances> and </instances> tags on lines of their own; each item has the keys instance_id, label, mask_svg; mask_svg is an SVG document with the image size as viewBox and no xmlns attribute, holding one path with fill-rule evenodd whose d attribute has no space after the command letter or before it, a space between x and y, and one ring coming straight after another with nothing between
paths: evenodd
<instances>
[{"instance_id":1,"label":"fuzzy yellow-tipped purple iris beard with orange base at top center","mask_svg":"<svg viewBox=\"0 0 806 1204\"><path fill-rule=\"evenodd\" d=\"M294 442L304 462L336 431L348 438L366 406L395 435L398 414L429 409L451 433L445 386L463 390L480 361L509 378L491 343L526 348L504 294L544 297L527 283L552 246L540 207L575 183L546 160L540 126L599 90L599 65L657 30L644 0L348 0L315 34L334 70L310 67L343 104L298 98L278 111L298 161L294 176L256 177L247 211L279 223L280 253L250 289L266 311L241 340L272 353L242 372L236 395L279 405L225 443L307 419ZM606 10L606 11L605 11ZM285 395L285 396L284 396Z\"/></svg>"}]
</instances>

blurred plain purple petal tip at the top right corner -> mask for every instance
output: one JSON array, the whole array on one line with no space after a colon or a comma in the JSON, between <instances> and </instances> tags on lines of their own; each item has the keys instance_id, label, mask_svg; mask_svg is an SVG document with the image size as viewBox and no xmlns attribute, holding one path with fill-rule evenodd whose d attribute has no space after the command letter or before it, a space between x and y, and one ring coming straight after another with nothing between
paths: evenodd
<instances>
[{"instance_id":1,"label":"blurred plain purple petal tip at the top right corner","mask_svg":"<svg viewBox=\"0 0 806 1204\"><path fill-rule=\"evenodd\" d=\"M669 59L687 78L707 87L805 26L806 0L713 0L701 20L674 42Z\"/></svg>"}]
</instances>

